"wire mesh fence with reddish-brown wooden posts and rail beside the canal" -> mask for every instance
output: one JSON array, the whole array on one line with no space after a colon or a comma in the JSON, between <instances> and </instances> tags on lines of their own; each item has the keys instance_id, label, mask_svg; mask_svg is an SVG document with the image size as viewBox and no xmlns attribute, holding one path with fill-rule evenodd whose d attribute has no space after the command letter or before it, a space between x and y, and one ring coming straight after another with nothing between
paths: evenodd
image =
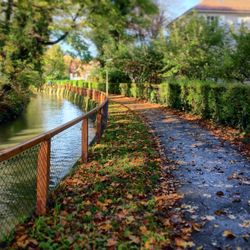
<instances>
[{"instance_id":1,"label":"wire mesh fence with reddish-brown wooden posts and rail beside the canal","mask_svg":"<svg viewBox=\"0 0 250 250\"><path fill-rule=\"evenodd\" d=\"M81 156L83 159L84 150L88 150L83 146L86 144L83 138L90 144L103 133L108 102L99 107L87 117L69 122L63 129L55 129L13 151L0 153L0 241L34 211L46 212L49 190L57 186ZM101 114L99 119L98 114ZM87 136L83 134L84 119L88 121Z\"/></svg>"}]
</instances>

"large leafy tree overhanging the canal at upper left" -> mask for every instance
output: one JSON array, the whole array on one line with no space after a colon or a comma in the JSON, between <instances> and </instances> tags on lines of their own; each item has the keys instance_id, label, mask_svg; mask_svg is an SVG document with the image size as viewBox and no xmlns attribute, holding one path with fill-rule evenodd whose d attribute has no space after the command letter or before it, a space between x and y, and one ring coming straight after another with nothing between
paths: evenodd
<instances>
[{"instance_id":1,"label":"large leafy tree overhanging the canal at upper left","mask_svg":"<svg viewBox=\"0 0 250 250\"><path fill-rule=\"evenodd\" d=\"M45 46L68 35L82 8L82 4L71 1L2 1L0 82L18 91L26 90L31 83L42 84Z\"/></svg>"}]
</instances>

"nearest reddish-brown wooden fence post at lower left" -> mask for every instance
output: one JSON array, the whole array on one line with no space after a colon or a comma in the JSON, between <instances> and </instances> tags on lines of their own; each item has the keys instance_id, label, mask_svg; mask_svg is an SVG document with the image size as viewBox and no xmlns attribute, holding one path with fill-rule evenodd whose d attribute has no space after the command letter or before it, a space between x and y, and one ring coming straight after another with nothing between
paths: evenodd
<instances>
[{"instance_id":1,"label":"nearest reddish-brown wooden fence post at lower left","mask_svg":"<svg viewBox=\"0 0 250 250\"><path fill-rule=\"evenodd\" d=\"M49 193L49 173L50 173L50 148L51 140L41 143L38 152L37 165L37 190L36 190L36 214L44 215L47 208Z\"/></svg>"}]
</instances>

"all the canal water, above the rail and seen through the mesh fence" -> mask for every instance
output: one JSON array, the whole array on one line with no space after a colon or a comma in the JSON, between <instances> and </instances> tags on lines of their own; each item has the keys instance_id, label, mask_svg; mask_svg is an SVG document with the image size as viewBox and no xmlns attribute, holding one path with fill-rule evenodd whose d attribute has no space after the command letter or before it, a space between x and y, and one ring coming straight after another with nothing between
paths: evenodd
<instances>
[{"instance_id":1,"label":"all the canal water, above the rail and seen through the mesh fence","mask_svg":"<svg viewBox=\"0 0 250 250\"><path fill-rule=\"evenodd\" d=\"M15 146L83 114L77 105L61 97L37 95L15 121L0 125L0 150ZM95 134L89 120L89 142ZM21 217L29 216L36 204L39 145L0 162L0 235ZM81 123L51 140L50 189L67 175L81 156Z\"/></svg>"}]
</instances>

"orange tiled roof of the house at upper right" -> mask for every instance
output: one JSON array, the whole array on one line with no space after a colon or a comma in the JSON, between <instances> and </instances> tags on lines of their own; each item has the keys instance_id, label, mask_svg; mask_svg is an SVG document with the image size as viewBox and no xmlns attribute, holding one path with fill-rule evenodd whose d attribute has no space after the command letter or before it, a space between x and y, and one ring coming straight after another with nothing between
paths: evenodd
<instances>
[{"instance_id":1,"label":"orange tiled roof of the house at upper right","mask_svg":"<svg viewBox=\"0 0 250 250\"><path fill-rule=\"evenodd\" d=\"M202 0L194 9L198 11L250 12L250 0Z\"/></svg>"}]
</instances>

